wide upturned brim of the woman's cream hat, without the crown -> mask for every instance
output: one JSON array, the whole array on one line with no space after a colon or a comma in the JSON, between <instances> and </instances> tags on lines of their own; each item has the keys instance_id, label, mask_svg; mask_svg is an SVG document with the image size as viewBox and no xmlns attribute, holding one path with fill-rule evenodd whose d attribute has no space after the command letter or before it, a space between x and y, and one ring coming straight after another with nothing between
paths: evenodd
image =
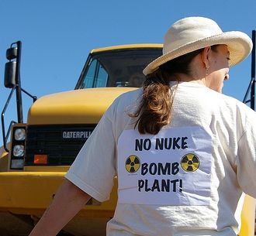
<instances>
[{"instance_id":1,"label":"wide upturned brim of the woman's cream hat, without the crown","mask_svg":"<svg viewBox=\"0 0 256 236\"><path fill-rule=\"evenodd\" d=\"M233 67L237 63L240 63L242 60L244 60L252 50L251 38L244 32L223 32L216 36L210 36L205 39L199 39L192 43L185 44L176 50L172 50L162 56L157 57L157 59L145 67L143 73L144 75L151 74L157 70L158 67L168 62L169 60L173 60L178 56L182 56L195 50L205 48L206 46L213 46L218 44L227 45L227 48L230 51L230 67Z\"/></svg>"}]
</instances>

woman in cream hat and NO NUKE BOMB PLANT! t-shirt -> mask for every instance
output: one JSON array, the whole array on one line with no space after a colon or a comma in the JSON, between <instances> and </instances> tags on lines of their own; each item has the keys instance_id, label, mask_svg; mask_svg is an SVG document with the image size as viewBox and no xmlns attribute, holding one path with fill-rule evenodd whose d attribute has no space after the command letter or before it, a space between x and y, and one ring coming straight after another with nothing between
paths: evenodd
<instances>
[{"instance_id":1,"label":"woman in cream hat and NO NUKE BOMB PLANT! t-shirt","mask_svg":"<svg viewBox=\"0 0 256 236\"><path fill-rule=\"evenodd\" d=\"M106 111L30 235L55 235L90 197L107 200L115 175L107 235L236 235L241 193L256 197L256 115L221 90L251 47L211 19L175 22L143 89Z\"/></svg>"}]
</instances>

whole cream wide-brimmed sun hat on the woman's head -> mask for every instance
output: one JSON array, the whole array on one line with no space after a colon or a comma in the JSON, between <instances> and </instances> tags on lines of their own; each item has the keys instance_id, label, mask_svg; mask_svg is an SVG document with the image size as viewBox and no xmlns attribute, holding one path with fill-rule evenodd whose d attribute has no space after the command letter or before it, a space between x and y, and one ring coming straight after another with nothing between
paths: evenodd
<instances>
[{"instance_id":1,"label":"whole cream wide-brimmed sun hat on the woman's head","mask_svg":"<svg viewBox=\"0 0 256 236\"><path fill-rule=\"evenodd\" d=\"M230 67L244 60L252 50L251 38L244 32L223 32L212 19L187 17L168 29L164 36L163 55L149 63L143 72L145 75L150 74L169 60L216 44L227 45Z\"/></svg>"}]
</instances>

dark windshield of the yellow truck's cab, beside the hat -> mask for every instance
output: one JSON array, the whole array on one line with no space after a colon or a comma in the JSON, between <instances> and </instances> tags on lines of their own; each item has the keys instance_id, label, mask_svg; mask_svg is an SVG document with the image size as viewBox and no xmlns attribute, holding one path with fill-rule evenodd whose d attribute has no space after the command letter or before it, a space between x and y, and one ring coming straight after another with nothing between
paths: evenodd
<instances>
[{"instance_id":1,"label":"dark windshield of the yellow truck's cab, beside the hat","mask_svg":"<svg viewBox=\"0 0 256 236\"><path fill-rule=\"evenodd\" d=\"M85 65L77 88L141 87L145 80L142 70L161 53L157 47L95 53Z\"/></svg>"}]
</instances>

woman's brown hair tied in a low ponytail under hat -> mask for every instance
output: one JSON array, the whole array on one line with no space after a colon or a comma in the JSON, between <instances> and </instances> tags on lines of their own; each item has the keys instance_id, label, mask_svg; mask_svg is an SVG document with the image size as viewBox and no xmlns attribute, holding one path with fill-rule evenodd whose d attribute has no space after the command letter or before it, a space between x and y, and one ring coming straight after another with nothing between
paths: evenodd
<instances>
[{"instance_id":1,"label":"woman's brown hair tied in a low ponytail under hat","mask_svg":"<svg viewBox=\"0 0 256 236\"><path fill-rule=\"evenodd\" d=\"M212 49L216 51L215 46L212 46ZM162 64L154 73L147 75L139 108L134 114L130 114L131 117L137 118L134 128L138 125L140 134L156 135L164 125L171 122L171 108L177 86L171 89L170 77L175 77L178 85L176 74L189 75L191 72L189 64L203 50L178 56Z\"/></svg>"}]
</instances>

